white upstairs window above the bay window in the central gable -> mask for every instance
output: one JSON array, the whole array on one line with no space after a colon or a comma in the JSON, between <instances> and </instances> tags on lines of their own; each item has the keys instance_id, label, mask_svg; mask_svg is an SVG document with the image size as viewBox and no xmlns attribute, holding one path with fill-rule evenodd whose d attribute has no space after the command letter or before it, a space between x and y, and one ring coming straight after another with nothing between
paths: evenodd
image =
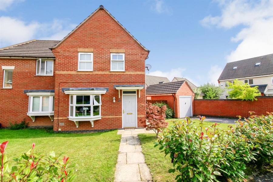
<instances>
[{"instance_id":1,"label":"white upstairs window above the bay window in the central gable","mask_svg":"<svg viewBox=\"0 0 273 182\"><path fill-rule=\"evenodd\" d=\"M79 52L78 71L93 71L93 52Z\"/></svg>"}]
</instances>

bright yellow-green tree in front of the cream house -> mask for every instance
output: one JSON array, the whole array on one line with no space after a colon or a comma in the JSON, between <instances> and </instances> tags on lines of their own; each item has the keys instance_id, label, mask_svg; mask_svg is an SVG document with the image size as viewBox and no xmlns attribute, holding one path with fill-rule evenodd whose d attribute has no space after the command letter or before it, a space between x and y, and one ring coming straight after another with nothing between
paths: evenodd
<instances>
[{"instance_id":1,"label":"bright yellow-green tree in front of the cream house","mask_svg":"<svg viewBox=\"0 0 273 182\"><path fill-rule=\"evenodd\" d=\"M234 80L233 84L228 82L228 88L231 91L227 91L231 99L242 100L257 100L255 97L260 96L261 93L258 90L258 86L250 87L247 83L243 83L238 79Z\"/></svg>"}]
</instances>

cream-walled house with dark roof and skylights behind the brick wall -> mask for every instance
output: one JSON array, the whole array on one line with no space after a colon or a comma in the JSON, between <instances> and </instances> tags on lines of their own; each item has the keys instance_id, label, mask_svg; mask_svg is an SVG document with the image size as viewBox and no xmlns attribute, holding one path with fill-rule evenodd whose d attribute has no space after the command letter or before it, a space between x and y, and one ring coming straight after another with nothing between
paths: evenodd
<instances>
[{"instance_id":1,"label":"cream-walled house with dark roof and skylights behind the brick wall","mask_svg":"<svg viewBox=\"0 0 273 182\"><path fill-rule=\"evenodd\" d=\"M273 54L227 63L218 79L225 90L220 99L228 98L227 83L232 84L234 79L258 86L262 96L273 96Z\"/></svg>"}]
</instances>

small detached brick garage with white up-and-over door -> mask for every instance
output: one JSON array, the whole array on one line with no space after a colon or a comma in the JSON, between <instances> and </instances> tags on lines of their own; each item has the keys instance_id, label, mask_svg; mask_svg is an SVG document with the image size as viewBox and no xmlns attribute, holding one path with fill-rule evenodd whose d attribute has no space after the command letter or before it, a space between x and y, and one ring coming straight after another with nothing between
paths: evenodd
<instances>
[{"instance_id":1,"label":"small detached brick garage with white up-and-over door","mask_svg":"<svg viewBox=\"0 0 273 182\"><path fill-rule=\"evenodd\" d=\"M194 92L186 81L150 85L146 89L147 100L167 100L175 118L193 115Z\"/></svg>"}]
</instances>

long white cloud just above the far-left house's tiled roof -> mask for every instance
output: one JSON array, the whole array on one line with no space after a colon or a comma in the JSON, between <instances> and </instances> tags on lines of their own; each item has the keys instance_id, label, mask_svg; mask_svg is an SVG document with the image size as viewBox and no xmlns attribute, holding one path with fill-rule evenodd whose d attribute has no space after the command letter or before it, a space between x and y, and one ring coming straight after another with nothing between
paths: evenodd
<instances>
[{"instance_id":1,"label":"long white cloud just above the far-left house's tiled roof","mask_svg":"<svg viewBox=\"0 0 273 182\"><path fill-rule=\"evenodd\" d=\"M5 47L31 39L61 40L76 25L68 20L54 19L49 23L24 22L8 16L0 17L0 47Z\"/></svg>"}]
</instances>

